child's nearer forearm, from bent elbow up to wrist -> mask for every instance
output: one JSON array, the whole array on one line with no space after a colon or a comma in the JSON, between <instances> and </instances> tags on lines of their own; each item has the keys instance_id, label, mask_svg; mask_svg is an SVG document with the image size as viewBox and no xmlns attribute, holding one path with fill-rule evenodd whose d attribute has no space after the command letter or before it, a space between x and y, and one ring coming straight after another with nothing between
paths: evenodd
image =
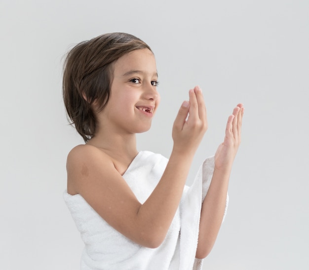
<instances>
[{"instance_id":1,"label":"child's nearer forearm, from bent elbow up to wrist","mask_svg":"<svg viewBox=\"0 0 309 270\"><path fill-rule=\"evenodd\" d=\"M152 247L164 240L172 223L184 190L193 154L173 151L166 169L150 197L141 205L138 216L140 228Z\"/></svg>"}]
</instances>

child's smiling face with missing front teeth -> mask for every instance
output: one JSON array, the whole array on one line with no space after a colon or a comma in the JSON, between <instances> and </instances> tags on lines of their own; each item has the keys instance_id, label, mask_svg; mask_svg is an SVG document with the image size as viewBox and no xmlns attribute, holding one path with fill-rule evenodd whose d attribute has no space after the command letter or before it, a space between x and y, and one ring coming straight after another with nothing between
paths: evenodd
<instances>
[{"instance_id":1,"label":"child's smiling face with missing front teeth","mask_svg":"<svg viewBox=\"0 0 309 270\"><path fill-rule=\"evenodd\" d=\"M132 51L114 63L108 104L99 114L102 124L117 133L141 133L151 127L159 105L157 71L149 49Z\"/></svg>"}]
</instances>

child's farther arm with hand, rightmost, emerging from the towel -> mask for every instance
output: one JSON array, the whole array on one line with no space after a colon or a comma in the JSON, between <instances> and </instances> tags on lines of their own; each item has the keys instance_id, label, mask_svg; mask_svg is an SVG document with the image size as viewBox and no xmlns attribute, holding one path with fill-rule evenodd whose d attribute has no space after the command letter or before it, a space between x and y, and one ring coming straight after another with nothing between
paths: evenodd
<instances>
[{"instance_id":1,"label":"child's farther arm with hand, rightmost, emerging from the towel","mask_svg":"<svg viewBox=\"0 0 309 270\"><path fill-rule=\"evenodd\" d=\"M244 108L238 104L229 117L224 142L215 154L215 168L207 195L203 201L199 223L196 258L205 258L217 238L224 216L232 163L241 139Z\"/></svg>"}]
</instances>

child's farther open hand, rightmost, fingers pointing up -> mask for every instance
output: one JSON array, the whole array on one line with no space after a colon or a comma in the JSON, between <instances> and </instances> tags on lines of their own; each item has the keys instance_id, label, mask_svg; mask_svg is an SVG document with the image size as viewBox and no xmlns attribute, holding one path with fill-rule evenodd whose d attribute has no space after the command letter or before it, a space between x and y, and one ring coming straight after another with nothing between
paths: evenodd
<instances>
[{"instance_id":1,"label":"child's farther open hand, rightmost, fingers pointing up","mask_svg":"<svg viewBox=\"0 0 309 270\"><path fill-rule=\"evenodd\" d=\"M242 104L238 104L234 108L233 114L229 116L224 142L219 145L215 154L215 169L223 171L231 171L232 163L236 156L241 140L241 123L244 108Z\"/></svg>"}]
</instances>

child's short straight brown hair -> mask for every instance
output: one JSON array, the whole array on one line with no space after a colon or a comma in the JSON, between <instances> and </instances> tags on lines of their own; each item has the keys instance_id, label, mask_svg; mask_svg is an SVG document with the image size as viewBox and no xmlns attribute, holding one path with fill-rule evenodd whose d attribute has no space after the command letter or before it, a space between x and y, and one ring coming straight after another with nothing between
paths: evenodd
<instances>
[{"instance_id":1,"label":"child's short straight brown hair","mask_svg":"<svg viewBox=\"0 0 309 270\"><path fill-rule=\"evenodd\" d=\"M96 131L97 112L110 98L113 63L133 50L151 48L141 39L126 33L105 34L78 43L66 56L62 93L70 124L87 142Z\"/></svg>"}]
</instances>

